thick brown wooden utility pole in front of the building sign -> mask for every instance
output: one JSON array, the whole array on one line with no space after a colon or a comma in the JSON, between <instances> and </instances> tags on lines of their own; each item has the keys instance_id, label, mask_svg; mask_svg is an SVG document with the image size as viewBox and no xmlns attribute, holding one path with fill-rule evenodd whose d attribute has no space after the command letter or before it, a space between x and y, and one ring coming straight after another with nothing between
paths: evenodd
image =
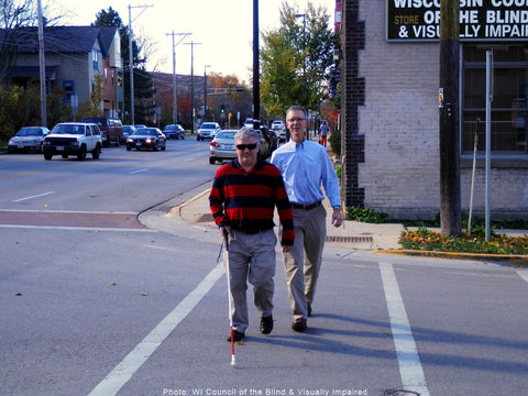
<instances>
[{"instance_id":1,"label":"thick brown wooden utility pole in front of the building sign","mask_svg":"<svg viewBox=\"0 0 528 396\"><path fill-rule=\"evenodd\" d=\"M459 138L460 0L440 1L440 226L462 233Z\"/></svg>"}]
</instances>

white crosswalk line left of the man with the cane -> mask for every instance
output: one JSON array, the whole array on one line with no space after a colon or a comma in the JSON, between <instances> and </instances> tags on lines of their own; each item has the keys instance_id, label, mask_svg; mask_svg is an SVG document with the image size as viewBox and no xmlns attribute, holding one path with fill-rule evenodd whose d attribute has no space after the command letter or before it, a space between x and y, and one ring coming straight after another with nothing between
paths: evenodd
<instances>
[{"instance_id":1,"label":"white crosswalk line left of the man with the cane","mask_svg":"<svg viewBox=\"0 0 528 396\"><path fill-rule=\"evenodd\" d=\"M209 293L215 283L223 275L222 264L218 264L201 283L174 310L163 319L143 341L141 341L108 376L97 385L88 396L116 395L135 374L148 358L157 350L170 332Z\"/></svg>"}]
</instances>

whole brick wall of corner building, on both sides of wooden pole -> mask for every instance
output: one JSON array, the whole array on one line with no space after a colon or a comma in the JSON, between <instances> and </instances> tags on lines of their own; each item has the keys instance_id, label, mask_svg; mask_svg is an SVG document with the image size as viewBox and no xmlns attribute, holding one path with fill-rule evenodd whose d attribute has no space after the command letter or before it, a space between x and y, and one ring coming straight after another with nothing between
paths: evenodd
<instances>
[{"instance_id":1,"label":"whole brick wall of corner building, on both sides of wooden pole","mask_svg":"<svg viewBox=\"0 0 528 396\"><path fill-rule=\"evenodd\" d=\"M344 176L345 196L364 195L363 206L383 211L392 218L430 219L440 212L439 158L439 44L388 43L385 41L386 0L345 0L343 19L358 8L358 20L343 20L343 45L358 37L364 25L363 47L356 46L355 80L364 81L364 102L358 106L354 120L350 103L358 90L343 88L343 129L348 141L345 157L353 165ZM349 12L348 12L349 10ZM346 62L343 48L342 67ZM350 55L349 55L350 59ZM342 70L344 84L352 85L350 70ZM349 79L346 79L349 76ZM349 97L346 97L349 95ZM352 122L351 122L352 121ZM356 131L354 131L356 129ZM350 142L364 140L364 157L350 161ZM345 161L344 167L348 163ZM512 166L513 165L513 166ZM522 167L519 167L522 166ZM461 208L470 207L471 158L461 160ZM484 212L484 175L480 162L475 179L474 212ZM492 218L528 215L528 168L524 162L492 163ZM345 198L346 205L352 200Z\"/></svg>"}]
</instances>

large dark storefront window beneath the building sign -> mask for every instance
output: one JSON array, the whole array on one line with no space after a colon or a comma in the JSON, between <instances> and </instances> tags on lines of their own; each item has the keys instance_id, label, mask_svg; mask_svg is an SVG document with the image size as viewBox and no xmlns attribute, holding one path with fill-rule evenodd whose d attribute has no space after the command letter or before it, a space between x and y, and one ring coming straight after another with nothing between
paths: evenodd
<instances>
[{"instance_id":1,"label":"large dark storefront window beneath the building sign","mask_svg":"<svg viewBox=\"0 0 528 396\"><path fill-rule=\"evenodd\" d=\"M528 45L463 46L462 153L485 151L486 51L493 50L492 153L528 153Z\"/></svg>"}]
</instances>

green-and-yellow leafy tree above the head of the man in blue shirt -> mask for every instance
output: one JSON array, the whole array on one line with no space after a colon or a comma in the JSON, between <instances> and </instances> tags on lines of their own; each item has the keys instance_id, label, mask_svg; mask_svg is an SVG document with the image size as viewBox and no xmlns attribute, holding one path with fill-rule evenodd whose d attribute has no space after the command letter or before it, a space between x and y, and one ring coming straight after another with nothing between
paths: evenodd
<instances>
[{"instance_id":1,"label":"green-and-yellow leafy tree above the head of the man in blue shirt","mask_svg":"<svg viewBox=\"0 0 528 396\"><path fill-rule=\"evenodd\" d=\"M288 3L280 10L280 26L263 34L261 102L272 116L284 116L293 103L318 108L327 96L337 36L330 15L311 2L298 23Z\"/></svg>"}]
</instances>

